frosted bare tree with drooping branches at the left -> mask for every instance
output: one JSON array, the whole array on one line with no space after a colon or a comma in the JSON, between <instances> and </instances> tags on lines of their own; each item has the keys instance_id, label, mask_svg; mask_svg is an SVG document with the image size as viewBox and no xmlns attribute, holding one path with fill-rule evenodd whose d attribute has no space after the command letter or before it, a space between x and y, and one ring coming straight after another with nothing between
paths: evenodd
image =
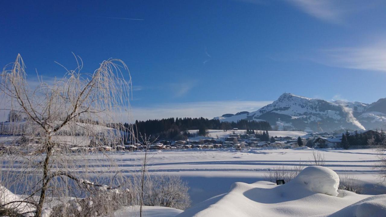
<instances>
[{"instance_id":1,"label":"frosted bare tree with drooping branches at the left","mask_svg":"<svg viewBox=\"0 0 386 217\"><path fill-rule=\"evenodd\" d=\"M1 185L26 196L20 199L23 203L10 203L28 204L27 208L33 205L33 210L26 211L29 216L49 216L48 208L56 209L56 204L65 204L60 208L63 216L71 209L78 211L75 216L87 216L81 215L82 204L102 215L108 212L96 211L95 205L101 207L108 200L102 200L100 192L127 198L122 192L124 184L131 182L124 181L125 176L107 152L127 139L118 130L121 124L116 123L129 118L128 68L119 59L109 59L93 73L83 74L81 59L76 57L76 61L75 70L63 66L63 78L52 85L39 79L35 89L28 85L20 55L1 75L3 109L17 112L24 120L8 123L14 146L12 152L3 149L0 154ZM92 151L101 153L89 154ZM70 203L72 208L66 206L70 197L75 198ZM3 200L0 198L0 203Z\"/></svg>"}]
</instances>

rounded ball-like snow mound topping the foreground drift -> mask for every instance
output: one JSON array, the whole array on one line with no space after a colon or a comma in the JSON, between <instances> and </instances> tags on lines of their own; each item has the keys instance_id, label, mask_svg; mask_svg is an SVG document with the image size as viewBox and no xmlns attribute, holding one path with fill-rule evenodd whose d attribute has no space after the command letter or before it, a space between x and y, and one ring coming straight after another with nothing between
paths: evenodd
<instances>
[{"instance_id":1,"label":"rounded ball-like snow mound topping the foreground drift","mask_svg":"<svg viewBox=\"0 0 386 217\"><path fill-rule=\"evenodd\" d=\"M338 196L339 176L327 167L308 166L291 181L293 183L303 185L315 193Z\"/></svg>"}]
</instances>

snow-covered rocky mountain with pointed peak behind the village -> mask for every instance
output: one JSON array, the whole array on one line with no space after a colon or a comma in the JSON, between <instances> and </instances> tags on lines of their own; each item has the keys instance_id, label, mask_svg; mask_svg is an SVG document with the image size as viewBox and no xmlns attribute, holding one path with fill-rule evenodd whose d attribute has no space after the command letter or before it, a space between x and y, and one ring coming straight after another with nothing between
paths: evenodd
<instances>
[{"instance_id":1,"label":"snow-covered rocky mountain with pointed peak behind the village","mask_svg":"<svg viewBox=\"0 0 386 217\"><path fill-rule=\"evenodd\" d=\"M255 112L239 112L215 117L220 121L266 120L279 129L380 129L386 125L386 98L375 103L328 102L321 99L283 93L278 100Z\"/></svg>"}]
</instances>

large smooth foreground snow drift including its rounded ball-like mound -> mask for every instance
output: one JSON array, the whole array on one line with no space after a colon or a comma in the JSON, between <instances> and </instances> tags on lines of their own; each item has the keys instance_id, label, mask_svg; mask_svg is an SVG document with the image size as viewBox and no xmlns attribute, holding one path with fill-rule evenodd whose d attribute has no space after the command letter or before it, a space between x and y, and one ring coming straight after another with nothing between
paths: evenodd
<instances>
[{"instance_id":1,"label":"large smooth foreground snow drift including its rounded ball-like mound","mask_svg":"<svg viewBox=\"0 0 386 217\"><path fill-rule=\"evenodd\" d=\"M338 186L339 177L334 171L310 166L284 185L236 182L228 193L205 200L177 216L359 217L368 212L377 217L386 213L386 195L359 195L338 190Z\"/></svg>"}]
</instances>

